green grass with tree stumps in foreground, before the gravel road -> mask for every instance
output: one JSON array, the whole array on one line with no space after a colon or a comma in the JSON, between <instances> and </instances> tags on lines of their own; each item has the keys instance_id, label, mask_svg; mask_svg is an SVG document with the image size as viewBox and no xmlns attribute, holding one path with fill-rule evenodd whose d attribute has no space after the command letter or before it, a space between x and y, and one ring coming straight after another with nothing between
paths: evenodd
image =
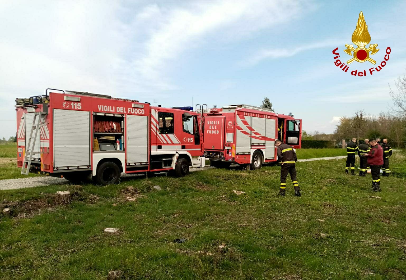
<instances>
[{"instance_id":1,"label":"green grass with tree stumps in foreground, before the gravel road","mask_svg":"<svg viewBox=\"0 0 406 280\"><path fill-rule=\"evenodd\" d=\"M298 163L300 198L290 179L278 196L277 165L0 191L19 203L19 218L0 218L0 278L106 279L119 269L123 279L405 279L405 159L391 158L381 193L371 175L344 174L345 159ZM55 205L65 189L73 202Z\"/></svg>"}]
</instances>

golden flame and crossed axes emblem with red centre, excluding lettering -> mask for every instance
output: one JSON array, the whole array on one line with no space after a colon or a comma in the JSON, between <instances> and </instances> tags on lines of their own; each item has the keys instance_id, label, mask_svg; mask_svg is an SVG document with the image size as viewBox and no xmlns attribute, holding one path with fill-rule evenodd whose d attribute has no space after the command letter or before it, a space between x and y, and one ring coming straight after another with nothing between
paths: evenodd
<instances>
[{"instance_id":1,"label":"golden flame and crossed axes emblem with red centre, excluding lettering","mask_svg":"<svg viewBox=\"0 0 406 280\"><path fill-rule=\"evenodd\" d=\"M344 52L346 52L348 55L353 56L352 59L347 61L348 64L354 61L369 61L373 64L376 63L374 59L371 59L369 57L369 52L371 52L371 55L376 54L379 50L378 48L376 48L378 44L370 44L369 48L365 48L365 46L369 44L369 42L371 42L371 35L369 35L368 26L365 22L362 11L361 13L359 13L358 22L356 24L354 33L352 33L351 40L357 46L357 48L354 48L352 45L346 44L346 49L344 50Z\"/></svg>"}]
</instances>

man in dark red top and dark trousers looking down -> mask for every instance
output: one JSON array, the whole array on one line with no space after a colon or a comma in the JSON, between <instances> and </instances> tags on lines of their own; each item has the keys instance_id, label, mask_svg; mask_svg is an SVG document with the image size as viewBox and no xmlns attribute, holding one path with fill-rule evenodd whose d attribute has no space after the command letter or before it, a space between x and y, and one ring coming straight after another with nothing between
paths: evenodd
<instances>
[{"instance_id":1,"label":"man in dark red top and dark trousers looking down","mask_svg":"<svg viewBox=\"0 0 406 280\"><path fill-rule=\"evenodd\" d=\"M383 164L383 151L380 144L373 139L369 141L371 143L371 151L364 153L364 157L368 158L368 165L371 166L372 173L372 190L374 192L380 191L380 168Z\"/></svg>"}]
</instances>

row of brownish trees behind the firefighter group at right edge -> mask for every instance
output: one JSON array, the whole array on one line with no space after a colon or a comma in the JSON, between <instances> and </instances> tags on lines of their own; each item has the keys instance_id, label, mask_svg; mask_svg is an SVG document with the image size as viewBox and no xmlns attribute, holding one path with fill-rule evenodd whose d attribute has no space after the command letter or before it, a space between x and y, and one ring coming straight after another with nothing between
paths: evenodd
<instances>
[{"instance_id":1,"label":"row of brownish trees behind the firefighter group at right edge","mask_svg":"<svg viewBox=\"0 0 406 280\"><path fill-rule=\"evenodd\" d=\"M389 94L393 101L390 112L367 116L364 110L359 110L350 118L340 118L335 139L379 137L387 138L395 147L406 147L406 77L400 77Z\"/></svg>"}]
</instances>

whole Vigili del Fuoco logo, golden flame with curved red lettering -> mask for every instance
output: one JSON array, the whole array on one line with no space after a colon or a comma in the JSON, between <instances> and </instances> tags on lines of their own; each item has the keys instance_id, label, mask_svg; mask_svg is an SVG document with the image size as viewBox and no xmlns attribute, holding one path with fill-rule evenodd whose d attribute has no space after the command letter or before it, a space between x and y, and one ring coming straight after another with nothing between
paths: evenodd
<instances>
[{"instance_id":1,"label":"whole Vigili del Fuoco logo, golden flame with curved red lettering","mask_svg":"<svg viewBox=\"0 0 406 280\"><path fill-rule=\"evenodd\" d=\"M375 55L378 53L379 49L378 44L369 44L371 42L371 35L369 35L368 32L368 26L365 23L364 15L361 11L358 17L358 22L356 24L356 28L354 30L354 33L352 33L351 37L352 42L357 46L357 48L354 48L354 46L351 44L346 44L346 49L344 52L348 55L351 55L352 58L347 61L347 64L351 64L354 61L358 61L360 63L363 63L365 61L369 61L372 64L376 65L376 61L372 59L370 56ZM366 48L367 44L369 44L369 48ZM344 62L341 62L339 53L337 53L338 47L333 50L333 55L335 55L334 59L334 64L335 66L341 68L344 72L347 72L350 67L346 65ZM386 62L389 60L389 54L391 53L391 48L387 47L386 48L386 53L385 56L382 60L382 62L378 65L378 67L372 67L369 68L369 74L372 75L374 71L379 72L382 70L382 68L386 65ZM366 70L352 70L351 71L352 76L358 76L358 77L365 77L367 76L367 71Z\"/></svg>"}]
</instances>

